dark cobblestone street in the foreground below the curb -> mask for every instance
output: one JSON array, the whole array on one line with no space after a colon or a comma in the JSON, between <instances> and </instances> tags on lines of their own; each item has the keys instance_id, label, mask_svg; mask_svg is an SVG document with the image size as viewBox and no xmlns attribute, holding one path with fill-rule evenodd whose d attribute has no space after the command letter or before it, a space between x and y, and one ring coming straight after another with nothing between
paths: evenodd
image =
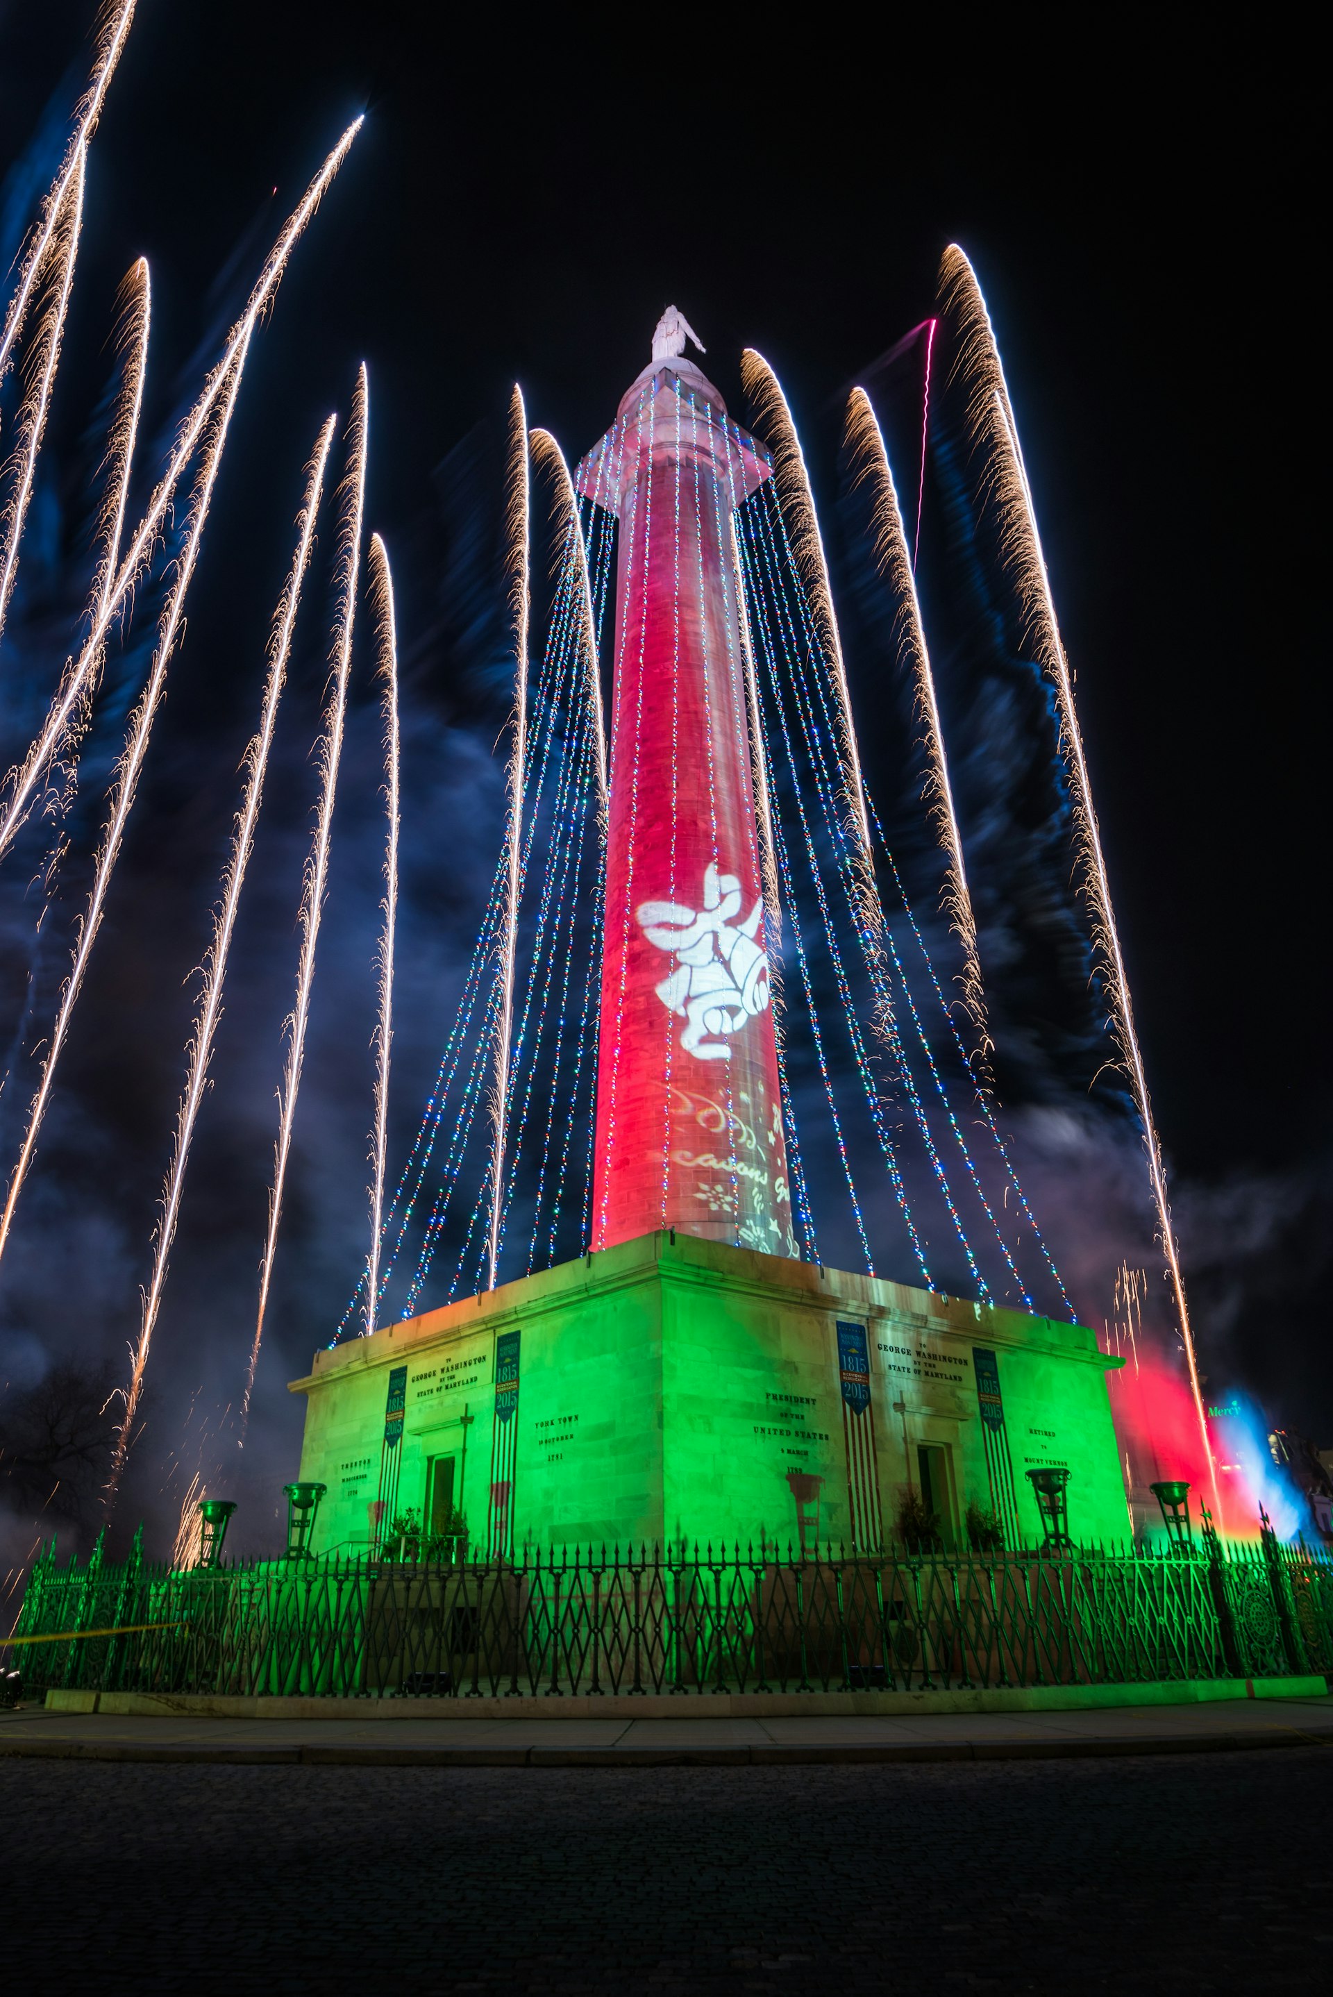
<instances>
[{"instance_id":1,"label":"dark cobblestone street in the foreground below the curb","mask_svg":"<svg viewBox=\"0 0 1333 1997\"><path fill-rule=\"evenodd\" d=\"M0 1763L18 1991L1303 1991L1333 1753Z\"/></svg>"}]
</instances>

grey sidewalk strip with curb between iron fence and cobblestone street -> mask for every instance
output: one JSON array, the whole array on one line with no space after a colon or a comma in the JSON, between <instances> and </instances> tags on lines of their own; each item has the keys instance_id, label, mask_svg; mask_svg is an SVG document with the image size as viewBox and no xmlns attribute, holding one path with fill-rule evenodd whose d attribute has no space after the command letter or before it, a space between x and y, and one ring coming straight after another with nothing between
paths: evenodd
<instances>
[{"instance_id":1,"label":"grey sidewalk strip with curb between iron fence and cobblestone street","mask_svg":"<svg viewBox=\"0 0 1333 1997\"><path fill-rule=\"evenodd\" d=\"M152 1741L0 1739L0 1759L162 1761L231 1767L836 1767L908 1761L1078 1761L1245 1747L1333 1747L1333 1729L1265 1727L1245 1733L1113 1735L1060 1741L846 1741L738 1747L363 1747Z\"/></svg>"}]
</instances>

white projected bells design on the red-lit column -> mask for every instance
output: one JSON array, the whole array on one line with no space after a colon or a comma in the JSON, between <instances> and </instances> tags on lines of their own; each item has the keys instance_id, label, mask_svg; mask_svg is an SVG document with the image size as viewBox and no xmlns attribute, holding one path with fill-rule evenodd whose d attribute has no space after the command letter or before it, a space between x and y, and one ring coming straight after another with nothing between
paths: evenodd
<instances>
[{"instance_id":1,"label":"white projected bells design on the red-lit column","mask_svg":"<svg viewBox=\"0 0 1333 1997\"><path fill-rule=\"evenodd\" d=\"M676 959L676 969L657 987L668 1012L686 1020L680 1046L700 1060L726 1060L730 1034L740 1032L768 1004L768 957L756 943L764 903L744 921L740 883L734 875L704 869L704 905L684 909L674 901L645 901L635 913L649 943Z\"/></svg>"}]
</instances>

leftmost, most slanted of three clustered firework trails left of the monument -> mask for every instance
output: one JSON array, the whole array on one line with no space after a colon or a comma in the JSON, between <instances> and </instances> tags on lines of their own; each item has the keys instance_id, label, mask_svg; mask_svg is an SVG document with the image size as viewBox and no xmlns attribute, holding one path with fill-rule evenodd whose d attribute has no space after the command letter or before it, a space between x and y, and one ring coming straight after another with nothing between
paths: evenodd
<instances>
[{"instance_id":1,"label":"leftmost, most slanted of three clustered firework trails left of the monument","mask_svg":"<svg viewBox=\"0 0 1333 1997\"><path fill-rule=\"evenodd\" d=\"M194 1030L188 1042L190 1072L186 1078L186 1092L180 1100L180 1110L176 1114L176 1142L172 1150L172 1164L168 1168L166 1184L162 1188L162 1220L158 1224L158 1250L154 1256L154 1272L144 1296L144 1318L140 1324L140 1344L136 1354L136 1382L142 1376L144 1364L148 1362L148 1348L158 1324L158 1312L162 1310L162 1290L166 1286L168 1262L172 1254L172 1242L176 1240L176 1224L180 1218L180 1202L186 1190L186 1166L190 1162L190 1144L194 1140L194 1126L200 1118L200 1108L204 1104L204 1092L208 1088L208 1066L214 1056L214 1038L218 1032L218 1020L222 1018L222 991L227 977L227 957L231 953L231 935L235 931L235 913L241 901L241 887L245 881L245 867L249 863L249 853L255 839L255 821L259 817L259 805L263 801L263 779L267 775L269 751L273 747L273 729L277 725L277 703L281 699L283 683L287 679L287 657L291 651L291 629L295 625L295 613L301 599L301 583L305 579L305 569L309 565L309 551L315 537L315 515L319 511L319 495L323 491L323 469L329 455L329 445L333 443L335 417L329 417L323 425L319 439L315 443L315 453L309 463L305 499L299 515L299 537L295 559L291 563L291 573L287 585L277 601L277 613L273 617L273 633L269 639L269 671L267 685L263 689L263 709L259 719L259 729L251 737L245 749L243 769L245 769L245 791L241 801L241 811L235 819L235 831L231 837L231 853L227 855L227 865L222 875L222 895L220 905L214 911L214 937L204 959L204 989L200 995L200 1010L194 1020ZM138 1394L138 1384L136 1384Z\"/></svg>"}]
</instances>

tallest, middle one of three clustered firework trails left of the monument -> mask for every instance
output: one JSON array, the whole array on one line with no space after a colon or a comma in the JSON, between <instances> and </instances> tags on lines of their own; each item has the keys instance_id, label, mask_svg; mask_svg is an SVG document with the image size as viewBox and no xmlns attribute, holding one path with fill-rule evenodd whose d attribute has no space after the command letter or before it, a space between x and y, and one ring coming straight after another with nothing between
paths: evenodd
<instances>
[{"instance_id":1,"label":"tallest, middle one of three clustered firework trails left of the monument","mask_svg":"<svg viewBox=\"0 0 1333 1997\"><path fill-rule=\"evenodd\" d=\"M255 1386L259 1364L259 1340L263 1338L263 1318L269 1308L269 1286L273 1282L273 1256L277 1254L277 1224L281 1220L281 1196L287 1180L287 1158L291 1156L291 1124L295 1120L295 1098L301 1088L301 1062L305 1060L305 1026L309 1022L309 993L315 983L315 945L319 943L319 921L323 917L323 895L329 879L329 835L333 831L333 797L337 793L337 767L343 759L343 727L347 721L347 679L351 673L351 633L357 619L357 579L361 575L361 525L365 519L365 445L369 429L369 379L365 363L357 371L357 387L351 399L351 425L347 431L347 475L341 485L343 517L337 537L337 609L333 615L333 683L327 699L327 721L319 739L319 805L315 809L315 833L305 861L305 881L301 887L301 959L295 975L295 1002L287 1018L287 1072L281 1086L281 1114L277 1120L277 1144L273 1146L273 1184L269 1188L269 1226L259 1264L259 1308L255 1312L255 1336L249 1346L249 1366L245 1370L245 1394L241 1398L241 1434L245 1444L245 1424L249 1420L249 1396Z\"/></svg>"}]
</instances>

